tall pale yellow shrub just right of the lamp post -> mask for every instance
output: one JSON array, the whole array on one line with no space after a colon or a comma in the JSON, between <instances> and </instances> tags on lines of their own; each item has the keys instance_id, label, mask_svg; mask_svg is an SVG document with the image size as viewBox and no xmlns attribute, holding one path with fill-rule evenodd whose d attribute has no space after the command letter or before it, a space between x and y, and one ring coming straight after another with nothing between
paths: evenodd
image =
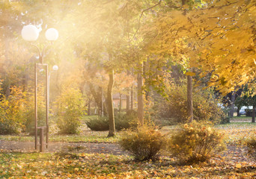
<instances>
[{"instance_id":1,"label":"tall pale yellow shrub just right of the lamp post","mask_svg":"<svg viewBox=\"0 0 256 179\"><path fill-rule=\"evenodd\" d=\"M85 111L85 99L80 90L69 88L62 92L56 100L57 126L61 134L78 134L80 118Z\"/></svg>"}]
</instances>

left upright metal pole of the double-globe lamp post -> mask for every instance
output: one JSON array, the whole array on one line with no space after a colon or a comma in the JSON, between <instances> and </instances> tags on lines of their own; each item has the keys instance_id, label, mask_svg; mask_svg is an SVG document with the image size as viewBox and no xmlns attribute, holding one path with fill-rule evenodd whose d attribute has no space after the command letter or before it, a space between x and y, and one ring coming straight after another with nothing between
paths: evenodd
<instances>
[{"instance_id":1,"label":"left upright metal pole of the double-globe lamp post","mask_svg":"<svg viewBox=\"0 0 256 179\"><path fill-rule=\"evenodd\" d=\"M37 63L34 63L34 145L37 150Z\"/></svg>"}]
</instances>

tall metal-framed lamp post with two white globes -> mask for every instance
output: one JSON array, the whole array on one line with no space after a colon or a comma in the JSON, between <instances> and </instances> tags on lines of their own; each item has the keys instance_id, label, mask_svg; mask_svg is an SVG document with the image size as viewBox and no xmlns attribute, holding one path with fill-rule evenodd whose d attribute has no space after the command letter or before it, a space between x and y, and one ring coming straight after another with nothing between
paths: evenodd
<instances>
[{"instance_id":1,"label":"tall metal-framed lamp post with two white globes","mask_svg":"<svg viewBox=\"0 0 256 179\"><path fill-rule=\"evenodd\" d=\"M58 39L58 31L55 28L49 28L46 31L46 40L54 41ZM37 40L39 37L39 31L34 25L25 25L22 28L22 38L26 41L32 42ZM39 63L34 63L34 131L35 131L35 149L37 149L37 130L40 130L40 151L44 150L43 145L43 131L46 130L46 148L48 148L49 143L49 126L48 126L48 114L49 114L49 78L48 78L48 64L43 63L44 51L46 46L43 48L43 51L40 51L40 48L37 45L34 45L37 48ZM37 127L37 66L43 66L46 70L46 126Z\"/></svg>"}]
</instances>

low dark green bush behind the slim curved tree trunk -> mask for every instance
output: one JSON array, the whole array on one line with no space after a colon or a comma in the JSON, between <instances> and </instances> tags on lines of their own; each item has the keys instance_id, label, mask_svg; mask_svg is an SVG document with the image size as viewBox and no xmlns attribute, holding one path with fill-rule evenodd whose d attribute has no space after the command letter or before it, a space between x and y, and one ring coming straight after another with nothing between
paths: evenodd
<instances>
[{"instance_id":1,"label":"low dark green bush behind the slim curved tree trunk","mask_svg":"<svg viewBox=\"0 0 256 179\"><path fill-rule=\"evenodd\" d=\"M115 114L115 128L118 131L127 128L134 128L137 122L136 112L130 110L126 114ZM85 124L91 131L108 131L109 130L109 118L104 116L96 116L90 118Z\"/></svg>"}]
</instances>

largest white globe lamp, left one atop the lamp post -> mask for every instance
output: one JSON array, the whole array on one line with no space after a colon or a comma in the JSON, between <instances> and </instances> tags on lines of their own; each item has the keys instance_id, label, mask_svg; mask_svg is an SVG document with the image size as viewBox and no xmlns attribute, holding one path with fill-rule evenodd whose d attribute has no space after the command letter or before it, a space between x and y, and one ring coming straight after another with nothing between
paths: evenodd
<instances>
[{"instance_id":1,"label":"largest white globe lamp, left one atop the lamp post","mask_svg":"<svg viewBox=\"0 0 256 179\"><path fill-rule=\"evenodd\" d=\"M26 41L35 41L39 36L39 31L34 25L25 25L22 28L22 38Z\"/></svg>"}]
</instances>

